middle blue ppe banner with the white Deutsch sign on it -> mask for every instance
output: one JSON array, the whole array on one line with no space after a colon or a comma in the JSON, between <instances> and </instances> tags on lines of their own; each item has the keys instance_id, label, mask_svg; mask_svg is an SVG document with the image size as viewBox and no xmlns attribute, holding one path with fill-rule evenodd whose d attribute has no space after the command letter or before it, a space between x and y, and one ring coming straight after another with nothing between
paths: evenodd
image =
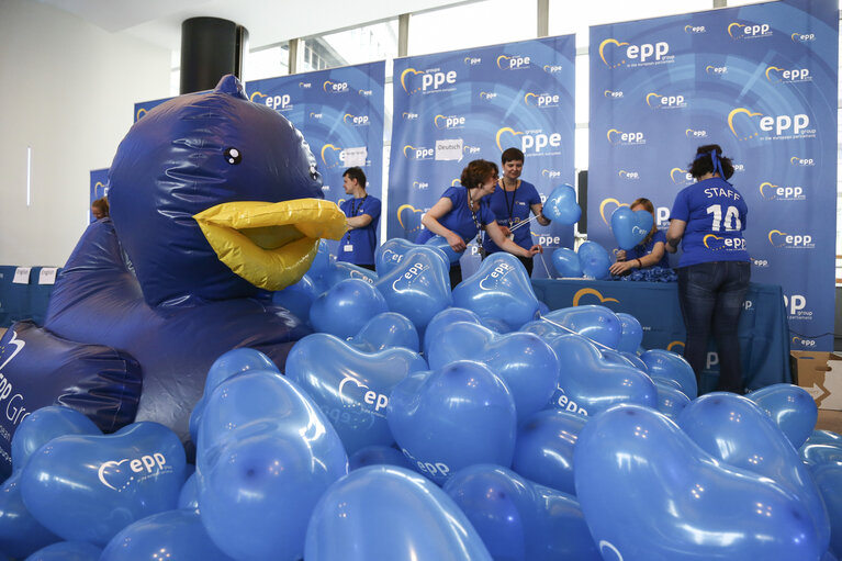
<instances>
[{"instance_id":1,"label":"middle blue ppe banner with the white Deutsch sign on it","mask_svg":"<svg viewBox=\"0 0 842 561\"><path fill-rule=\"evenodd\" d=\"M422 215L461 184L469 161L499 166L509 147L524 152L521 178L542 201L575 184L574 60L573 35L395 59L388 237L414 240ZM573 245L571 226L530 226L545 248ZM465 277L480 261L469 248ZM550 253L536 257L534 277L552 277Z\"/></svg>"}]
</instances>

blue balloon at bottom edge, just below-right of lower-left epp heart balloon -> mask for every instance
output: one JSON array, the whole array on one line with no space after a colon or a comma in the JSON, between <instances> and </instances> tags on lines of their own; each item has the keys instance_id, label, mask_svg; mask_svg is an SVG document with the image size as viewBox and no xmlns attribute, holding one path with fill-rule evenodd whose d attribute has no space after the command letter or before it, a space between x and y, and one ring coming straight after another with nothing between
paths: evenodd
<instances>
[{"instance_id":1,"label":"blue balloon at bottom edge, just below-right of lower-left epp heart balloon","mask_svg":"<svg viewBox=\"0 0 842 561\"><path fill-rule=\"evenodd\" d=\"M168 510L137 520L114 536L100 561L229 561L195 510ZM279 559L279 558L274 558Z\"/></svg>"}]
</instances>

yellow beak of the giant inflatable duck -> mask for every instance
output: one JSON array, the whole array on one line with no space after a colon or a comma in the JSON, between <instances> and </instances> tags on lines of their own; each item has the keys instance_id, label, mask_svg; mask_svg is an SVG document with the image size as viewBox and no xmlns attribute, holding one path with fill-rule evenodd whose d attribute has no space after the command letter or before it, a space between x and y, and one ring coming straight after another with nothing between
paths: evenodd
<instances>
[{"instance_id":1,"label":"yellow beak of the giant inflatable duck","mask_svg":"<svg viewBox=\"0 0 842 561\"><path fill-rule=\"evenodd\" d=\"M222 262L267 290L301 280L316 257L318 240L339 239L348 227L336 203L319 199L223 203L193 218Z\"/></svg>"}]
</instances>

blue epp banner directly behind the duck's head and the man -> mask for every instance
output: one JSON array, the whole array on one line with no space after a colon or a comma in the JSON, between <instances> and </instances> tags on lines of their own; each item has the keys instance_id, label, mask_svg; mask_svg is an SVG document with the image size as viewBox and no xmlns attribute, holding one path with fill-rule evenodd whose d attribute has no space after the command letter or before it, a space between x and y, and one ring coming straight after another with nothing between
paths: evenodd
<instances>
[{"instance_id":1,"label":"blue epp banner directly behind the duck's head and the man","mask_svg":"<svg viewBox=\"0 0 842 561\"><path fill-rule=\"evenodd\" d=\"M339 204L347 197L343 173L352 166L366 173L367 192L383 199L384 83L381 60L255 80L246 83L246 92L302 132L318 164L325 199ZM328 247L336 255L337 242Z\"/></svg>"}]
</instances>

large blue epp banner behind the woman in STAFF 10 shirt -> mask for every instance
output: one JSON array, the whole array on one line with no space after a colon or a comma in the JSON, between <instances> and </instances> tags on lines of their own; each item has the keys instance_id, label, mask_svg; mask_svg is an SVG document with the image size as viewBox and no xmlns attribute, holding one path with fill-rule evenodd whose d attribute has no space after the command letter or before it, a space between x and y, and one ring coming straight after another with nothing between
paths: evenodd
<instances>
[{"instance_id":1,"label":"large blue epp banner behind the woman in STAFF 10 shirt","mask_svg":"<svg viewBox=\"0 0 842 561\"><path fill-rule=\"evenodd\" d=\"M611 212L638 197L666 228L719 144L752 281L782 285L793 348L831 350L838 25L838 1L792 0L591 27L588 237L615 247Z\"/></svg>"}]
</instances>

